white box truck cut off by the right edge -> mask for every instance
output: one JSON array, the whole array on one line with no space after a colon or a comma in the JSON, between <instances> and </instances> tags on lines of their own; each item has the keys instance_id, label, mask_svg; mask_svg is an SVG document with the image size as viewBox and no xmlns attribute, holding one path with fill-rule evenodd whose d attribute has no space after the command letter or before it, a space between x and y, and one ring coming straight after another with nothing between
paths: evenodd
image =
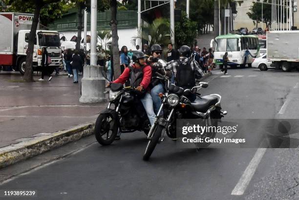
<instances>
[{"instance_id":1,"label":"white box truck cut off by the right edge","mask_svg":"<svg viewBox=\"0 0 299 200\"><path fill-rule=\"evenodd\" d=\"M282 71L299 68L299 31L268 31L267 60Z\"/></svg>"}]
</instances>

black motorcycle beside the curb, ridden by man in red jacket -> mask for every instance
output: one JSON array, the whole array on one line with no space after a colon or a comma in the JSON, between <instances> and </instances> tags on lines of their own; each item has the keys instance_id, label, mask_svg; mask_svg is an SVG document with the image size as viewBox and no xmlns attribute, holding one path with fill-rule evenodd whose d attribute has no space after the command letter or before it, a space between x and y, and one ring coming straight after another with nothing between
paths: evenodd
<instances>
[{"instance_id":1,"label":"black motorcycle beside the curb, ridden by man in red jacket","mask_svg":"<svg viewBox=\"0 0 299 200\"><path fill-rule=\"evenodd\" d=\"M105 79L107 74L102 71ZM108 80L108 79L107 79ZM94 134L101 145L110 145L121 133L143 131L148 135L150 123L148 115L136 96L136 89L123 84L111 83L107 109L102 111L95 123Z\"/></svg>"}]
</instances>

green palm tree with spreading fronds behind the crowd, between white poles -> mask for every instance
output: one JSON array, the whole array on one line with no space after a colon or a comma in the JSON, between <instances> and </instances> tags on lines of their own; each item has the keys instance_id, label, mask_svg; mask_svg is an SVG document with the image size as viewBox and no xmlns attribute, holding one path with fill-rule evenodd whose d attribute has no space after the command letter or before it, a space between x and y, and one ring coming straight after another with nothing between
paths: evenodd
<instances>
[{"instance_id":1,"label":"green palm tree with spreading fronds behind the crowd, between white poles","mask_svg":"<svg viewBox=\"0 0 299 200\"><path fill-rule=\"evenodd\" d=\"M164 44L167 45L170 40L170 23L164 18L155 19L152 23L145 23L141 27L141 39L149 42L149 46L152 44ZM131 40L132 43L136 41L138 36L134 36Z\"/></svg>"}]
</instances>

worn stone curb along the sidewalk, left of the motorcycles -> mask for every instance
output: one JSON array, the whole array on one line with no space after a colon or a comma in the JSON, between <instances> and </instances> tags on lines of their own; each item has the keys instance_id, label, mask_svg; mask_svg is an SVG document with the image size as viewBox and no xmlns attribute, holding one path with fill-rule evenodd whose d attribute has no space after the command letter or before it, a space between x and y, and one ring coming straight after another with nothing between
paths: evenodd
<instances>
[{"instance_id":1,"label":"worn stone curb along the sidewalk, left of the motorcycles","mask_svg":"<svg viewBox=\"0 0 299 200\"><path fill-rule=\"evenodd\" d=\"M93 134L94 122L54 133L40 133L27 141L0 148L0 169Z\"/></svg>"}]
</instances>

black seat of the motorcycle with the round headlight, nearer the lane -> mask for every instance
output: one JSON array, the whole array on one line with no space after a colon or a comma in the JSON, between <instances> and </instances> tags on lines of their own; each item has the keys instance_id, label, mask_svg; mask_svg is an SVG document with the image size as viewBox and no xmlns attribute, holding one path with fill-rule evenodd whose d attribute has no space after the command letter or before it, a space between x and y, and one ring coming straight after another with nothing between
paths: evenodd
<instances>
[{"instance_id":1,"label":"black seat of the motorcycle with the round headlight, nearer the lane","mask_svg":"<svg viewBox=\"0 0 299 200\"><path fill-rule=\"evenodd\" d=\"M191 103L195 111L207 112L211 106L214 106L218 102L218 98L213 95L202 96L201 98L196 98L194 102Z\"/></svg>"}]
</instances>

